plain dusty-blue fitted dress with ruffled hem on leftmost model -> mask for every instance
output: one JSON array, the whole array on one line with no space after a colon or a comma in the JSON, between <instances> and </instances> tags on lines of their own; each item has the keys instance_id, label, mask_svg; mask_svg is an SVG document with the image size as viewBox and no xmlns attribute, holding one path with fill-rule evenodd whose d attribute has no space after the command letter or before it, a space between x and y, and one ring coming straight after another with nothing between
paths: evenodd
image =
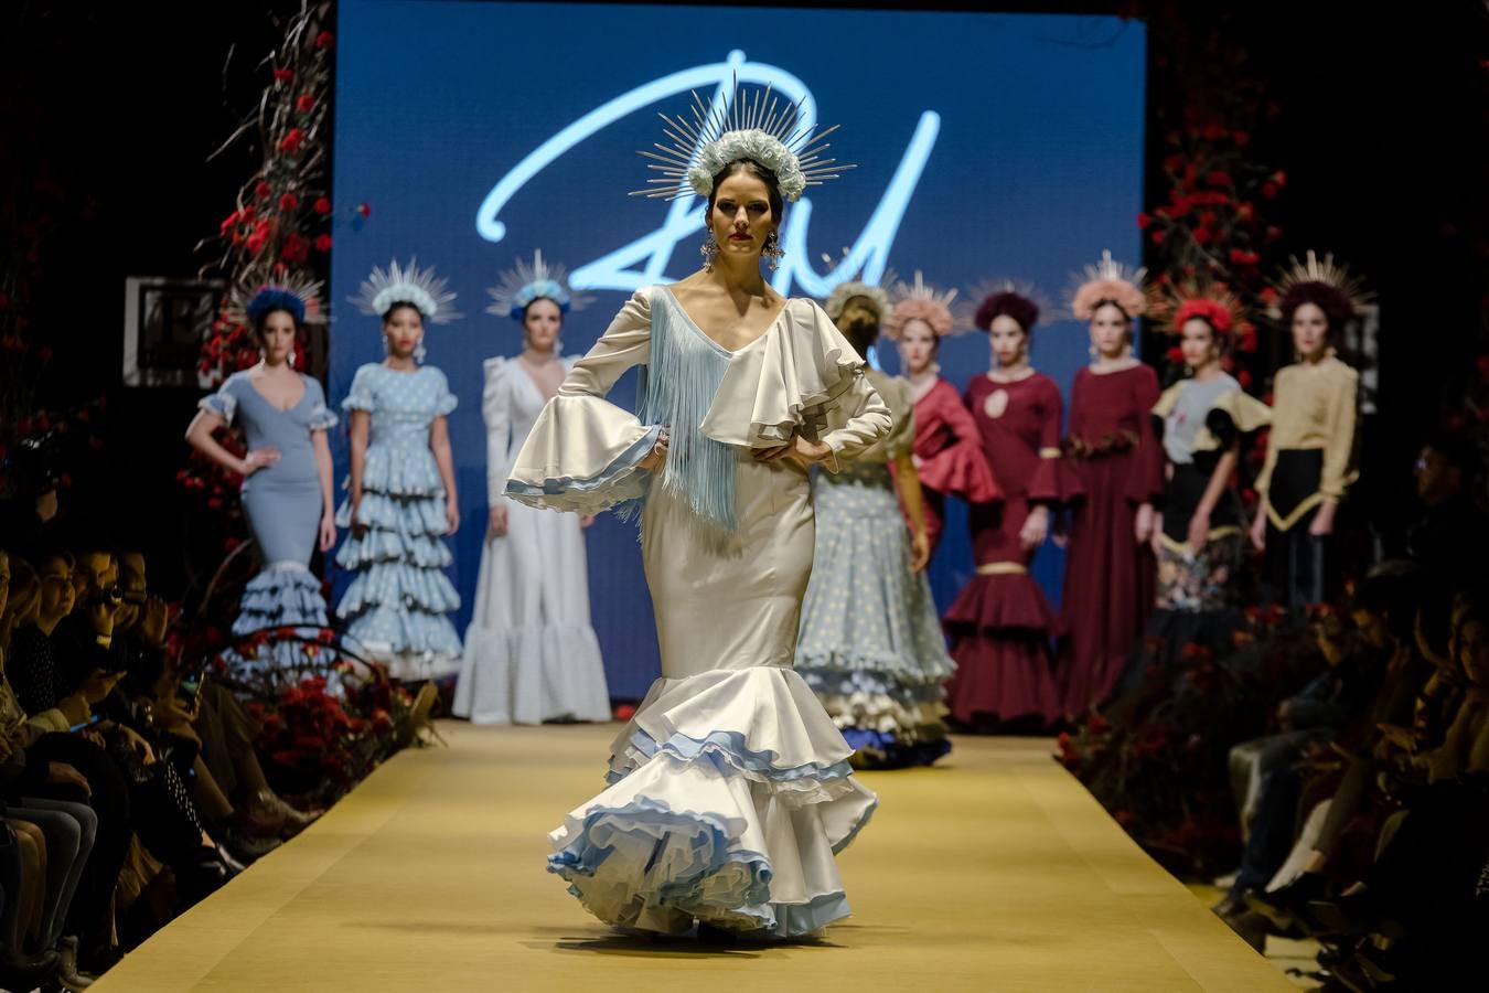
<instances>
[{"instance_id":1,"label":"plain dusty-blue fitted dress with ruffled hem on leftmost model","mask_svg":"<svg viewBox=\"0 0 1489 993\"><path fill-rule=\"evenodd\" d=\"M325 511L311 433L335 426L337 415L326 409L320 383L308 375L299 378L305 392L287 411L265 399L247 372L232 374L198 403L241 427L249 450L272 447L280 454L272 466L246 476L238 491L264 561L243 590L232 622L238 648L225 654L228 664L244 674L304 668L317 654L316 636L326 627L320 579L310 572ZM283 628L293 628L293 637L274 636ZM244 646L241 640L256 633L268 634L265 643Z\"/></svg>"}]
</instances>

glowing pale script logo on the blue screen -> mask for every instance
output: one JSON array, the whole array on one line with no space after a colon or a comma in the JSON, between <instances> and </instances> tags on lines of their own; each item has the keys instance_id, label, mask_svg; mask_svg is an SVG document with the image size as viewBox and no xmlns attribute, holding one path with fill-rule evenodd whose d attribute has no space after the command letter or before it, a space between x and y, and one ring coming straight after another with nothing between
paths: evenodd
<instances>
[{"instance_id":1,"label":"glowing pale script logo on the blue screen","mask_svg":"<svg viewBox=\"0 0 1489 993\"><path fill-rule=\"evenodd\" d=\"M621 118L640 110L649 104L689 89L706 86L715 88L715 101L722 101L727 88L734 80L740 83L770 85L774 92L801 103L803 125L816 124L817 106L806 83L786 70L765 63L750 63L744 52L730 52L722 63L695 66L664 76L630 92L596 107L569 127L563 128L551 138L533 149L512 171L491 188L491 192L481 201L476 211L476 232L487 241L500 241L506 237L506 225L497 214L517 195L517 192L543 168L554 162L564 152L584 141L597 131L609 127ZM877 283L884 274L889 262L889 250L899 231L899 222L905 216L905 207L920 183L926 159L935 147L937 135L941 131L941 118L934 110L920 115L910 144L899 159L889 186L884 189L879 205L870 214L868 222L849 249L847 256L828 274L819 274L812 268L807 255L807 226L812 222L812 201L803 197L786 213L786 226L782 231L782 247L786 258L780 268L771 275L771 284L780 293L789 293L792 286L812 296L826 296L832 287L844 280L861 278L867 283ZM593 290L624 290L631 292L652 283L664 283L667 277L663 271L672 261L672 253L679 241L694 240L703 228L700 211L692 197L675 199L667 207L667 216L661 226L630 244L621 246L609 255L579 265L569 277L575 289ZM686 249L692 252L692 249Z\"/></svg>"}]
</instances>

